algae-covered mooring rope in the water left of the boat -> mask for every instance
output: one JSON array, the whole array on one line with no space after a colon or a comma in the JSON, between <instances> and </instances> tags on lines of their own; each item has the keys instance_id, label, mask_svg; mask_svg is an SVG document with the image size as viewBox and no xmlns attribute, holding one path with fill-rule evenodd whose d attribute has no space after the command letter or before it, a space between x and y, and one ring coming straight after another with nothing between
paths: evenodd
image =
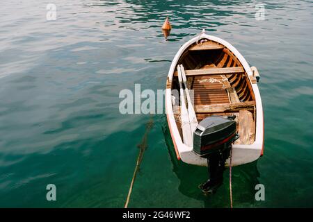
<instances>
[{"instance_id":1,"label":"algae-covered mooring rope in the water left of the boat","mask_svg":"<svg viewBox=\"0 0 313 222\"><path fill-rule=\"evenodd\" d=\"M138 144L138 148L140 150L139 150L139 153L138 153L136 167L135 167L135 170L134 170L134 175L133 175L133 178L131 180L131 185L129 187L129 191L128 191L128 195L127 195L127 199L126 199L126 203L125 203L124 208L128 207L129 199L130 199L130 196L131 196L131 191L133 190L134 182L136 180L136 176L137 176L137 173L139 171L139 167L141 165L141 161L143 160L143 153L147 149L147 135L149 134L152 126L153 126L153 119L151 117L151 119L147 122L147 125L145 126L146 130L145 130L145 134L143 135L143 139L141 141L141 144Z\"/></svg>"}]
</instances>

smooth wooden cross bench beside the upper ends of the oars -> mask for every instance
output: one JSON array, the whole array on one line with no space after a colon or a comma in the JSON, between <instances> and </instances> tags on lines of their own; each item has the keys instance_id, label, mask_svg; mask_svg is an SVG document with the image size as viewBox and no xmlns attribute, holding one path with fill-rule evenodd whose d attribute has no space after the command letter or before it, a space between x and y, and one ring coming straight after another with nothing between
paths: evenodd
<instances>
[{"instance_id":1,"label":"smooth wooden cross bench beside the upper ends of the oars","mask_svg":"<svg viewBox=\"0 0 313 222\"><path fill-rule=\"evenodd\" d=\"M214 76L224 74L243 74L243 67L228 67L228 68L208 68L208 69L190 69L185 70L186 76ZM177 76L177 71L174 72Z\"/></svg>"}]
</instances>

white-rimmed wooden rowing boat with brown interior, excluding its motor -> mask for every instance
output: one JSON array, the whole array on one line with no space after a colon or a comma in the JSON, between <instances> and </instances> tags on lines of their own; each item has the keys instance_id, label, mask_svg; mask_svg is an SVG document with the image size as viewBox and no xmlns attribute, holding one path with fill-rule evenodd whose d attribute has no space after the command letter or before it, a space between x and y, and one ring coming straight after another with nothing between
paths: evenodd
<instances>
[{"instance_id":1,"label":"white-rimmed wooden rowing boat with brown interior, excluding its motor","mask_svg":"<svg viewBox=\"0 0 313 222\"><path fill-rule=\"evenodd\" d=\"M179 75L183 71L179 70L180 65L186 76L183 88L193 92L192 104L182 101L186 96L182 96L180 90ZM236 133L240 137L232 142L232 166L255 161L263 155L264 120L258 80L257 69L250 67L241 53L225 40L202 31L186 42L172 60L166 83L166 115L177 159L188 164L208 165L207 158L193 150L192 139L184 138L184 134L195 130L192 123L193 130L182 128L182 117L186 128L186 112L189 117L192 114L190 105L198 122L216 115L235 118ZM175 96L175 90L179 96ZM225 163L230 164L229 157Z\"/></svg>"}]
</instances>

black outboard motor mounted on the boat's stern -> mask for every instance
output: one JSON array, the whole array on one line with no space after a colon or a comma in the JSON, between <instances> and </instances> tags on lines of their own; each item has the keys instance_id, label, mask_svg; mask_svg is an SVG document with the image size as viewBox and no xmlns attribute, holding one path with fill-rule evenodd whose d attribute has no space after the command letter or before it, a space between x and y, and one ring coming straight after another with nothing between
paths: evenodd
<instances>
[{"instance_id":1,"label":"black outboard motor mounted on the boat's stern","mask_svg":"<svg viewBox=\"0 0 313 222\"><path fill-rule=\"evenodd\" d=\"M193 133L193 151L207 158L209 180L199 187L204 193L214 193L223 184L225 161L230 156L236 134L236 116L211 116L203 119Z\"/></svg>"}]
</instances>

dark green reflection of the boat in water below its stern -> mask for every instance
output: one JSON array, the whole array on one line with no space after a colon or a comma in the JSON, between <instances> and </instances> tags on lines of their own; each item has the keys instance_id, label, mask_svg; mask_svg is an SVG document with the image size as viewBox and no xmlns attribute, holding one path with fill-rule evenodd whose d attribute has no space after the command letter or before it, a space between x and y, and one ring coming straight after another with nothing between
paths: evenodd
<instances>
[{"instance_id":1,"label":"dark green reflection of the boat in water below its stern","mask_svg":"<svg viewBox=\"0 0 313 222\"><path fill-rule=\"evenodd\" d=\"M167 123L163 124L162 130L172 162L172 171L180 181L179 192L190 198L203 200L204 207L229 207L229 170L226 169L223 185L216 191L216 194L205 196L201 189L198 188L198 185L207 179L207 167L198 167L177 160ZM255 193L257 192L255 185L259 184L259 176L257 161L232 168L232 198L234 207L250 207L257 202L255 200ZM239 199L240 206L236 205L236 200Z\"/></svg>"}]
</instances>

